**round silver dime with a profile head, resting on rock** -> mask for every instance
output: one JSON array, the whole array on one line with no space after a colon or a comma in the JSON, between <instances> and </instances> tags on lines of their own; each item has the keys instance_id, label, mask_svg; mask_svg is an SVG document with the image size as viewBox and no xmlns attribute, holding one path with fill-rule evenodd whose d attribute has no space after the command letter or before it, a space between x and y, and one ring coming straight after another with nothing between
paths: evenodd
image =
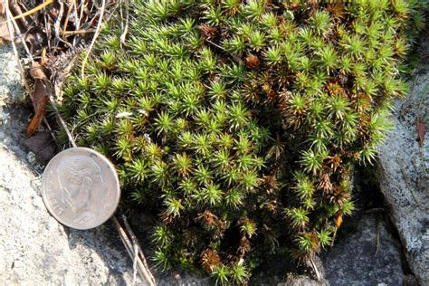
<instances>
[{"instance_id":1,"label":"round silver dime with a profile head, resting on rock","mask_svg":"<svg viewBox=\"0 0 429 286\"><path fill-rule=\"evenodd\" d=\"M106 222L119 204L115 167L90 148L58 153L43 172L43 201L60 223L90 229Z\"/></svg>"}]
</instances>

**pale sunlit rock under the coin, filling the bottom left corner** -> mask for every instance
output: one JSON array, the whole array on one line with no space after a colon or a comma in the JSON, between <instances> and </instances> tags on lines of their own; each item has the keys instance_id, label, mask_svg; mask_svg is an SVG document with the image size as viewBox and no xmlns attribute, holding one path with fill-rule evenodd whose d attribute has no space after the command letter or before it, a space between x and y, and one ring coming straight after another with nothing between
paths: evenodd
<instances>
[{"instance_id":1,"label":"pale sunlit rock under the coin, filling the bottom left corner","mask_svg":"<svg viewBox=\"0 0 429 286\"><path fill-rule=\"evenodd\" d=\"M46 212L40 180L0 147L0 284L113 284L132 281L130 261L109 225L74 231Z\"/></svg>"}]
</instances>

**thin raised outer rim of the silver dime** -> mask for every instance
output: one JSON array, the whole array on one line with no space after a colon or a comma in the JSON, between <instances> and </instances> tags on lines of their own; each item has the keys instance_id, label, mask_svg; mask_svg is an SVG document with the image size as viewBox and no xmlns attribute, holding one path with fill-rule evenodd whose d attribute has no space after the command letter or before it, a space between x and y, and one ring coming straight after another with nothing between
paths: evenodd
<instances>
[{"instance_id":1,"label":"thin raised outer rim of the silver dime","mask_svg":"<svg viewBox=\"0 0 429 286\"><path fill-rule=\"evenodd\" d=\"M116 189L117 189L117 192L116 192L116 199L115 199L115 204L114 205L117 205L117 207L116 208L114 208L114 209L112 209L112 211L110 212L110 213L107 213L108 215L106 215L107 216L107 218L105 219L105 220L103 220L103 221L101 221L100 222L100 224L96 224L96 225L93 225L93 226L91 226L91 227L76 227L75 225L71 225L71 224L68 224L67 222L64 222L64 220L60 217L60 216L58 216L58 215L56 215L55 214L55 212L53 212L53 210L52 210L52 207L51 207L51 205L49 204L49 200L46 198L46 187L45 187L45 180L44 180L44 178L45 178L45 173L46 173L46 170L49 170L49 167L53 164L52 162L55 162L55 159L58 159L58 157L60 157L60 156L62 156L64 153L67 153L67 152L73 152L73 151L79 151L79 150L82 150L82 151L88 151L88 152L90 152L90 153L92 153L92 154L94 154L94 155L96 155L97 157L99 157L100 158L100 160L101 161L103 161L103 163L106 163L109 167L111 167L111 170L113 171L113 174L114 174L114 180L115 180L115 183L116 183ZM68 226L68 227L70 227L70 228L72 228L72 229L77 229L77 230L88 230L88 229L92 229L92 228L95 228L95 227L98 227L98 226L100 226L101 224L104 224L104 223L106 223L109 219L110 219L110 217L113 215L113 214L115 214L115 212L116 212L116 210L118 209L118 205L119 205L119 199L120 199L120 185L119 185L119 177L118 177L118 173L116 172L116 167L113 165L113 163L111 163L110 162L110 160L107 158L107 157L105 157L104 155L102 155L100 152L97 152L97 151L95 151L95 150L93 150L93 149L91 149L91 148L85 148L85 147L74 147L74 148L68 148L68 149L65 149L65 150L62 150L61 152L59 152L59 153L57 153L54 157L52 157L52 159L49 161L49 163L48 163L48 165L46 165L46 167L44 168L44 170L43 170L43 177L42 177L42 197L43 197L43 203L44 203L44 205L46 206L46 208L48 209L48 211L49 211L49 213L60 223L60 224L63 224L63 225L66 225L66 226ZM104 216L104 215L103 215Z\"/></svg>"}]
</instances>

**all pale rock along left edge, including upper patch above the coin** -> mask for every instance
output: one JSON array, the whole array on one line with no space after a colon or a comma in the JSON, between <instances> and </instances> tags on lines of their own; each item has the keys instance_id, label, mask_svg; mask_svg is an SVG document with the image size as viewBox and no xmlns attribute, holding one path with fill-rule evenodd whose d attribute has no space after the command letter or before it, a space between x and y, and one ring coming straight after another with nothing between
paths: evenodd
<instances>
[{"instance_id":1,"label":"all pale rock along left edge, including upper patch above the coin","mask_svg":"<svg viewBox=\"0 0 429 286\"><path fill-rule=\"evenodd\" d=\"M46 211L43 167L18 144L29 114L8 107L24 100L24 89L7 44L0 66L0 285L131 284L132 263L111 224L75 231Z\"/></svg>"}]
</instances>

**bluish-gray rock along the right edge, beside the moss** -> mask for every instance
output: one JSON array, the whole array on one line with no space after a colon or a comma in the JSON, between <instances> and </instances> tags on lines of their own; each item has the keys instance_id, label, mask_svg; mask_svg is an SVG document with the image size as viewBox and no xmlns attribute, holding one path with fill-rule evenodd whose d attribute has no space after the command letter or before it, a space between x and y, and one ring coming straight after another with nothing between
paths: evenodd
<instances>
[{"instance_id":1,"label":"bluish-gray rock along the right edge, beside the moss","mask_svg":"<svg viewBox=\"0 0 429 286\"><path fill-rule=\"evenodd\" d=\"M396 102L395 129L379 149L377 176L411 270L429 285L429 41L421 46L411 91ZM417 120L426 127L423 142Z\"/></svg>"}]
</instances>

